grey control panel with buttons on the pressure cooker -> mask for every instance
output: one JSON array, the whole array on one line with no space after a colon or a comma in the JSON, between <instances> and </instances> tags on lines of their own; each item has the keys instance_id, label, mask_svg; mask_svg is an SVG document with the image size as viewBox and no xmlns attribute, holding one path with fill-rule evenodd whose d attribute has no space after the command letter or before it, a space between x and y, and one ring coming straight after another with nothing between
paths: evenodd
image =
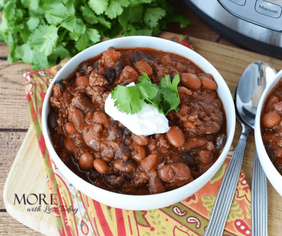
<instances>
[{"instance_id":1,"label":"grey control panel with buttons on the pressure cooker","mask_svg":"<svg viewBox=\"0 0 282 236\"><path fill-rule=\"evenodd\" d=\"M217 1L225 10L238 18L275 31L282 31L282 0Z\"/></svg>"}]
</instances>

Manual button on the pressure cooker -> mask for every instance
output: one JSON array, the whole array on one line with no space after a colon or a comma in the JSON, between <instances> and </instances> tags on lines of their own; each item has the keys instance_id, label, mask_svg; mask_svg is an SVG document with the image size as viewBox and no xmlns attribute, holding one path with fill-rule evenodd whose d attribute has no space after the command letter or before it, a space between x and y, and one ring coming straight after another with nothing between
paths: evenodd
<instances>
[{"instance_id":1,"label":"Manual button on the pressure cooker","mask_svg":"<svg viewBox=\"0 0 282 236\"><path fill-rule=\"evenodd\" d=\"M279 18L282 11L279 5L264 0L257 0L255 9L258 13L273 18Z\"/></svg>"}]
</instances>

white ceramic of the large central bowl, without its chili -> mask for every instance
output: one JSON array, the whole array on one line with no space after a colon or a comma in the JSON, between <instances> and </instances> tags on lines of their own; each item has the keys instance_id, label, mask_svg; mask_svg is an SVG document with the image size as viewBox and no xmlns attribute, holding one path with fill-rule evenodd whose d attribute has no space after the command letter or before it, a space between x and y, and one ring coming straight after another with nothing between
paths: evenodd
<instances>
[{"instance_id":1,"label":"white ceramic of the large central bowl, without its chili","mask_svg":"<svg viewBox=\"0 0 282 236\"><path fill-rule=\"evenodd\" d=\"M211 73L214 76L215 81L219 85L217 92L221 97L221 100L224 105L224 110L226 112L226 119L228 124L226 127L227 140L217 161L212 165L211 168L209 168L199 178L196 178L192 182L182 187L164 193L141 195L141 196L125 195L125 194L107 191L88 183L87 181L83 180L82 178L74 174L58 157L52 146L52 142L49 136L49 130L47 127L47 116L49 113L48 100L52 92L52 84L57 79L67 78L75 70L75 68L78 66L79 63L81 63L83 60L99 55L100 53L106 51L109 46L113 46L114 48L146 47L146 48L154 48L162 51L168 51L175 54L183 55L186 58L191 58L190 60L192 60L193 63L198 65L200 68L202 68L203 71L205 71L206 73ZM70 71L69 69L67 69L68 67L74 69ZM123 208L129 210L147 210L153 208L161 208L179 202L185 199L186 197L190 196L191 194L195 193L204 184L206 184L212 176L214 176L214 174L222 165L231 147L234 132L235 132L235 107L234 107L233 99L226 82L219 74L219 72L214 68L214 66L211 65L211 63L209 63L205 58L203 58L195 51L179 43L175 43L173 41L161 39L158 37L149 37L149 36L121 37L112 40L107 40L98 43L94 46L91 46L88 49L85 49L84 51L80 52L72 59L70 59L64 66L62 66L62 68L59 70L59 72L55 75L54 79L52 80L46 92L45 98L48 99L44 99L44 104L42 109L42 125L43 125L43 135L45 137L45 143L49 151L50 157L53 159L54 163L61 171L61 173L63 173L63 175L67 177L69 181L72 181L72 184L75 187L77 187L80 191L82 191L89 197L99 202L117 208ZM105 193L107 194L108 197L105 195ZM114 201L114 203L112 203L112 201Z\"/></svg>"}]
</instances>

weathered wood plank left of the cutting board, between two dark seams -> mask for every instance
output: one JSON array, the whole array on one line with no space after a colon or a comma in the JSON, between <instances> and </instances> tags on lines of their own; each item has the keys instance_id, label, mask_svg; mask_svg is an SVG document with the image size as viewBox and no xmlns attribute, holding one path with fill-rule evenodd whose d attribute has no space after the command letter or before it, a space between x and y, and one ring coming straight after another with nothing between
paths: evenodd
<instances>
[{"instance_id":1,"label":"weathered wood plank left of the cutting board, between two dark seams","mask_svg":"<svg viewBox=\"0 0 282 236\"><path fill-rule=\"evenodd\" d=\"M27 132L0 132L0 209L5 208L2 194L4 184L26 133Z\"/></svg>"}]
</instances>

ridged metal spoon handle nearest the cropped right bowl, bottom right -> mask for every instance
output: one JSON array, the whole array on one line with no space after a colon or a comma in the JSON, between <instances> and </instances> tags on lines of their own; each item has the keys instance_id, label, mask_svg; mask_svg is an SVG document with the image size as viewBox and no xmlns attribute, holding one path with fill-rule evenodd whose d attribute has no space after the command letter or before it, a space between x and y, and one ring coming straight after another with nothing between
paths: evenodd
<instances>
[{"instance_id":1,"label":"ridged metal spoon handle nearest the cropped right bowl, bottom right","mask_svg":"<svg viewBox=\"0 0 282 236\"><path fill-rule=\"evenodd\" d=\"M257 152L253 161L251 236L267 236L267 184Z\"/></svg>"}]
</instances>

